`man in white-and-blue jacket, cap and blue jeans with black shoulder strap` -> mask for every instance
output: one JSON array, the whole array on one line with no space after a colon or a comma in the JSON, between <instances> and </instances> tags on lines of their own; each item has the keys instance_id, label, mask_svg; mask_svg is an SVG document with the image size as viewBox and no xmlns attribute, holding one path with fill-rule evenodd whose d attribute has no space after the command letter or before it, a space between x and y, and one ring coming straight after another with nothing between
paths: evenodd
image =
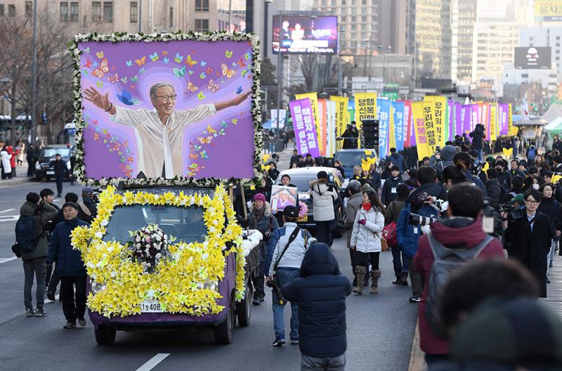
<instances>
[{"instance_id":1,"label":"man in white-and-blue jacket, cap and blue jeans with black shoulder strap","mask_svg":"<svg viewBox=\"0 0 562 371\"><path fill-rule=\"evenodd\" d=\"M283 226L274 230L269 237L267 247L267 258L265 262L268 282L277 279L278 287L283 287L292 282L300 275L301 263L306 254L306 249L316 240L308 230L301 230L296 226L296 219L299 216L299 209L294 206L287 206L283 210ZM296 229L298 228L298 229ZM275 340L273 346L283 346L285 340L285 318L283 312L287 301L280 303L276 290L273 289L273 330ZM296 303L291 303L291 344L299 344L299 307Z\"/></svg>"}]
</instances>

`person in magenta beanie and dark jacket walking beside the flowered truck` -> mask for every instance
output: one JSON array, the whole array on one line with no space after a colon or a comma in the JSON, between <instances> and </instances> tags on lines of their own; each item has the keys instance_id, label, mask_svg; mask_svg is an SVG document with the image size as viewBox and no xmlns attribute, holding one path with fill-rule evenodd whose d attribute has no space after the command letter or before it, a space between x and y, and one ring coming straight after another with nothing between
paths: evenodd
<instances>
[{"instance_id":1,"label":"person in magenta beanie and dark jacket walking beside the flowered truck","mask_svg":"<svg viewBox=\"0 0 562 371\"><path fill-rule=\"evenodd\" d=\"M271 207L263 193L256 193L252 201L247 219L244 221L244 219L239 217L238 221L240 225L248 226L250 229L257 229L263 235L263 240L260 241L259 245L259 273L251 278L251 284L254 285L254 299L251 304L259 305L263 302L263 298L266 297L266 292L263 290L263 280L265 278L263 262L266 260L266 243L271 233L279 228L279 224L275 216L271 214Z\"/></svg>"}]
</instances>

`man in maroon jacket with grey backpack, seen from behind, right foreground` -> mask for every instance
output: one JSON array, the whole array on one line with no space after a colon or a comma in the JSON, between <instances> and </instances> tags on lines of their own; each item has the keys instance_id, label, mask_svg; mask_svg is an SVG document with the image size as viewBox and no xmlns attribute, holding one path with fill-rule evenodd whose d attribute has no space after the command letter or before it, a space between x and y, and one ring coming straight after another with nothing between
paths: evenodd
<instances>
[{"instance_id":1,"label":"man in maroon jacket with grey backpack, seen from behind, right foreground","mask_svg":"<svg viewBox=\"0 0 562 371\"><path fill-rule=\"evenodd\" d=\"M419 345L426 353L429 370L436 362L446 360L450 352L449 340L439 326L440 317L435 315L439 311L441 285L444 286L446 278L452 273L447 271L447 267L454 271L464 261L505 259L501 242L489 237L482 228L482 191L472 184L460 183L449 189L448 201L447 218L431 224L431 232L419 238L414 257L414 267L425 282L419 303Z\"/></svg>"}]
</instances>

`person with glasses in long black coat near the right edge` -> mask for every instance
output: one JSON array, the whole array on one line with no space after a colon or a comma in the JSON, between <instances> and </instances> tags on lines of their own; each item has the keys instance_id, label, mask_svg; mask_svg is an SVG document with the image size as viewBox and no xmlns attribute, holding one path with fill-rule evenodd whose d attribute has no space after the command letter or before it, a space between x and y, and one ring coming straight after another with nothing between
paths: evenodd
<instances>
[{"instance_id":1,"label":"person with glasses in long black coat near the right edge","mask_svg":"<svg viewBox=\"0 0 562 371\"><path fill-rule=\"evenodd\" d=\"M548 216L537 211L542 195L538 190L528 190L523 195L523 215L507 215L504 221L504 244L509 259L523 264L535 276L540 287L540 297L547 297L547 255L550 252L553 230Z\"/></svg>"}]
</instances>

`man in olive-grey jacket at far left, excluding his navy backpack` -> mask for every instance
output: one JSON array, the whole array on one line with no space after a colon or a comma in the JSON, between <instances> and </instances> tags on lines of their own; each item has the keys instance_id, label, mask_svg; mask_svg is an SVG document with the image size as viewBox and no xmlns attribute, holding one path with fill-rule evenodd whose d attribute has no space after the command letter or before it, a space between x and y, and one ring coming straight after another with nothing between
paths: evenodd
<instances>
[{"instance_id":1,"label":"man in olive-grey jacket at far left, excluding his navy backpack","mask_svg":"<svg viewBox=\"0 0 562 371\"><path fill-rule=\"evenodd\" d=\"M57 214L57 210L48 202L42 202L41 197L37 193L27 193L25 203L20 208L20 218L32 216L35 223L35 232L39 237L37 245L32 252L22 252L23 272L25 275L25 283L23 285L23 300L25 304L25 316L45 317L47 315L44 309L45 300L45 278L47 264L48 237L44 233L45 224L53 219ZM33 277L37 282L36 305L37 309L33 310L32 303L32 286Z\"/></svg>"}]
</instances>

